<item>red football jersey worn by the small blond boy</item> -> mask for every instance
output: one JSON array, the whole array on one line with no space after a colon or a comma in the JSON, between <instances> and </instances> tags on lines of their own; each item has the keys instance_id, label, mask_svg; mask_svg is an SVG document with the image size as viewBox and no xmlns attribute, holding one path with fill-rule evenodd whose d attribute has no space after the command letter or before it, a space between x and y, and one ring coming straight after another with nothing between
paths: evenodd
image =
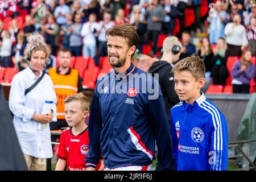
<instances>
[{"instance_id":1,"label":"red football jersey worn by the small blond boy","mask_svg":"<svg viewBox=\"0 0 256 182\"><path fill-rule=\"evenodd\" d=\"M85 158L88 154L88 127L78 135L73 135L72 127L60 134L57 158L67 160L68 171L85 171ZM100 168L100 164L96 166L96 170Z\"/></svg>"}]
</instances>

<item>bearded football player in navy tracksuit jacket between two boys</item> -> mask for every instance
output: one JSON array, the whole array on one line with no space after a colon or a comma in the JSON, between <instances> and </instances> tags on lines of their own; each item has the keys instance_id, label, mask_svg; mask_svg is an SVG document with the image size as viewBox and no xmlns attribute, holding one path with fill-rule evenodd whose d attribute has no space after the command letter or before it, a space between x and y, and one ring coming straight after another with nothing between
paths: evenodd
<instances>
[{"instance_id":1,"label":"bearded football player in navy tracksuit jacket between two boys","mask_svg":"<svg viewBox=\"0 0 256 182\"><path fill-rule=\"evenodd\" d=\"M124 23L110 28L106 35L114 70L98 80L94 90L86 168L93 170L102 152L105 170L150 170L156 141L163 170L171 169L171 135L162 92L155 78L131 63L138 43L129 46L130 38L124 37L137 37L137 32ZM124 72L118 73L121 69Z\"/></svg>"}]
</instances>

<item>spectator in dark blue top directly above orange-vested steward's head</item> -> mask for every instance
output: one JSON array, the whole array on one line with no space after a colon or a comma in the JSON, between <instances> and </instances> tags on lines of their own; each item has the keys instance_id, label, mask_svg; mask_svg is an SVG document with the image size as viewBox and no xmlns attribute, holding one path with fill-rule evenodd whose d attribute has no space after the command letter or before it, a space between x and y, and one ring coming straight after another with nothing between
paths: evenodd
<instances>
[{"instance_id":1,"label":"spectator in dark blue top directly above orange-vested steward's head","mask_svg":"<svg viewBox=\"0 0 256 182\"><path fill-rule=\"evenodd\" d=\"M70 27L72 26L73 22L72 22L72 14L68 13L66 15L67 18L67 23L63 24L60 27L60 35L62 36L62 47L65 47L67 49L71 49L69 46L69 38L71 36L71 31L70 31Z\"/></svg>"}]
</instances>

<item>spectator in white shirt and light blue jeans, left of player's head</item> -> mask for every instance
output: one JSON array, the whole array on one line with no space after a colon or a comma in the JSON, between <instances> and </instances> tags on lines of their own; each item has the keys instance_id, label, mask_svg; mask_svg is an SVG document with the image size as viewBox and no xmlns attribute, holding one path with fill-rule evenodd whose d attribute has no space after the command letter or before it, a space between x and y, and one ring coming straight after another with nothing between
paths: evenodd
<instances>
[{"instance_id":1,"label":"spectator in white shirt and light blue jeans, left of player's head","mask_svg":"<svg viewBox=\"0 0 256 182\"><path fill-rule=\"evenodd\" d=\"M89 21L82 25L81 36L83 37L82 56L94 57L96 55L96 32L99 29L96 22L96 14L89 16Z\"/></svg>"}]
</instances>

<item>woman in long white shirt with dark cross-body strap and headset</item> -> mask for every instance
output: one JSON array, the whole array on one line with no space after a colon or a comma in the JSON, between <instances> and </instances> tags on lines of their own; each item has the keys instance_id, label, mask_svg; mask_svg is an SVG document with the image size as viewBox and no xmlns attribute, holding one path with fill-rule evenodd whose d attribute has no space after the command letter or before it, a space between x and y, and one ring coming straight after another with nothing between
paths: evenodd
<instances>
[{"instance_id":1,"label":"woman in long white shirt with dark cross-body strap and headset","mask_svg":"<svg viewBox=\"0 0 256 182\"><path fill-rule=\"evenodd\" d=\"M53 156L49 122L57 121L57 98L51 78L42 72L47 58L43 36L28 37L26 49L28 67L11 82L9 107L28 169L45 171L46 159ZM38 85L25 94L40 77Z\"/></svg>"}]
</instances>

